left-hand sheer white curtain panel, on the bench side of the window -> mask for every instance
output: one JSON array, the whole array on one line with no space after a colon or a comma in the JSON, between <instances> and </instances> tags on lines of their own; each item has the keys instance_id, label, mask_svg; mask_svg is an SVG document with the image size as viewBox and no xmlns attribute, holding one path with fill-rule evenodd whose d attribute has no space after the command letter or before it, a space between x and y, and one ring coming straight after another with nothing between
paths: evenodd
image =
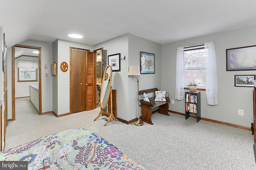
<instances>
[{"instance_id":1,"label":"left-hand sheer white curtain panel, on the bench side of the window","mask_svg":"<svg viewBox=\"0 0 256 170\"><path fill-rule=\"evenodd\" d=\"M184 53L183 47L177 48L176 57L176 88L175 88L175 99L183 100L184 97Z\"/></svg>"}]
</instances>

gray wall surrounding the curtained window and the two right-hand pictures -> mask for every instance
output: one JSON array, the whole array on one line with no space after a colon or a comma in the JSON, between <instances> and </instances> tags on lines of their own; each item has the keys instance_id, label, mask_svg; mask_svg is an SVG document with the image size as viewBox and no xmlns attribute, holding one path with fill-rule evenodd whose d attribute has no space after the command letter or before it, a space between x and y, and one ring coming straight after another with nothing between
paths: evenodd
<instances>
[{"instance_id":1,"label":"gray wall surrounding the curtained window and the two right-hand pictures","mask_svg":"<svg viewBox=\"0 0 256 170\"><path fill-rule=\"evenodd\" d=\"M206 94L201 91L201 116L227 123L250 127L253 121L253 101L251 87L234 87L234 75L256 74L255 71L226 71L226 49L256 45L256 25L186 39L162 45L162 88L175 98L175 74L177 47L184 47L213 41L216 52L218 77L218 106L208 106ZM170 110L185 113L185 101L175 100ZM244 110L244 116L238 115Z\"/></svg>"}]
</instances>

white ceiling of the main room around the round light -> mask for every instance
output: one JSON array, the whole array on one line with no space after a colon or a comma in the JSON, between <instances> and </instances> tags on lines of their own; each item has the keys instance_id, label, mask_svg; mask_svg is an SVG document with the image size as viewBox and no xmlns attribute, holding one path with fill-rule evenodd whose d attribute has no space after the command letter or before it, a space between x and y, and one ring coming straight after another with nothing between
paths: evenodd
<instances>
[{"instance_id":1,"label":"white ceiling of the main room around the round light","mask_svg":"<svg viewBox=\"0 0 256 170\"><path fill-rule=\"evenodd\" d=\"M125 33L165 44L256 25L256 0L0 1L7 47L27 39L96 45Z\"/></svg>"}]
</instances>

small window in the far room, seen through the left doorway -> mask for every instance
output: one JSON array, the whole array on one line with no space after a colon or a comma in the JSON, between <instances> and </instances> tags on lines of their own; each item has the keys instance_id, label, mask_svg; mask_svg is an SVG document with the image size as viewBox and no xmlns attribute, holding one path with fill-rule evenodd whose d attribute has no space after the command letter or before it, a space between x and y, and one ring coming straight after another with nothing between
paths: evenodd
<instances>
[{"instance_id":1,"label":"small window in the far room, seen through the left doorway","mask_svg":"<svg viewBox=\"0 0 256 170\"><path fill-rule=\"evenodd\" d=\"M35 82L37 81L36 68L18 68L18 82Z\"/></svg>"}]
</instances>

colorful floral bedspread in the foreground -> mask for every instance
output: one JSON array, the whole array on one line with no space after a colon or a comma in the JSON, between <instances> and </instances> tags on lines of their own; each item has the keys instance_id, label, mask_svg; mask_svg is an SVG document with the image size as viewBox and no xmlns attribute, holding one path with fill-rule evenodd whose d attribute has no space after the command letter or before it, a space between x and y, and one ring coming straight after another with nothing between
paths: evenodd
<instances>
[{"instance_id":1,"label":"colorful floral bedspread in the foreground","mask_svg":"<svg viewBox=\"0 0 256 170\"><path fill-rule=\"evenodd\" d=\"M4 150L0 160L28 161L28 170L146 170L85 128L69 129Z\"/></svg>"}]
</instances>

